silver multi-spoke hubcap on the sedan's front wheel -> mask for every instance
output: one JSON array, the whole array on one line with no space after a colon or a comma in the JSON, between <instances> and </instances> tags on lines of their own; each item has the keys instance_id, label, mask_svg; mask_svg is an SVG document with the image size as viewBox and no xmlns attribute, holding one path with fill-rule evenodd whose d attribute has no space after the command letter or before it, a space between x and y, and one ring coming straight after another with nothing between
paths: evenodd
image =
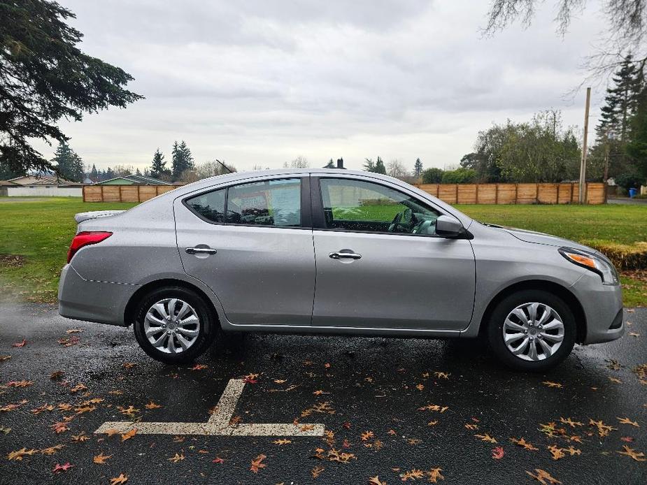
<instances>
[{"instance_id":1,"label":"silver multi-spoke hubcap on the sedan's front wheel","mask_svg":"<svg viewBox=\"0 0 647 485\"><path fill-rule=\"evenodd\" d=\"M524 303L512 310L503 326L508 350L524 361L543 361L557 352L564 340L564 323L544 303Z\"/></svg>"}]
</instances>

